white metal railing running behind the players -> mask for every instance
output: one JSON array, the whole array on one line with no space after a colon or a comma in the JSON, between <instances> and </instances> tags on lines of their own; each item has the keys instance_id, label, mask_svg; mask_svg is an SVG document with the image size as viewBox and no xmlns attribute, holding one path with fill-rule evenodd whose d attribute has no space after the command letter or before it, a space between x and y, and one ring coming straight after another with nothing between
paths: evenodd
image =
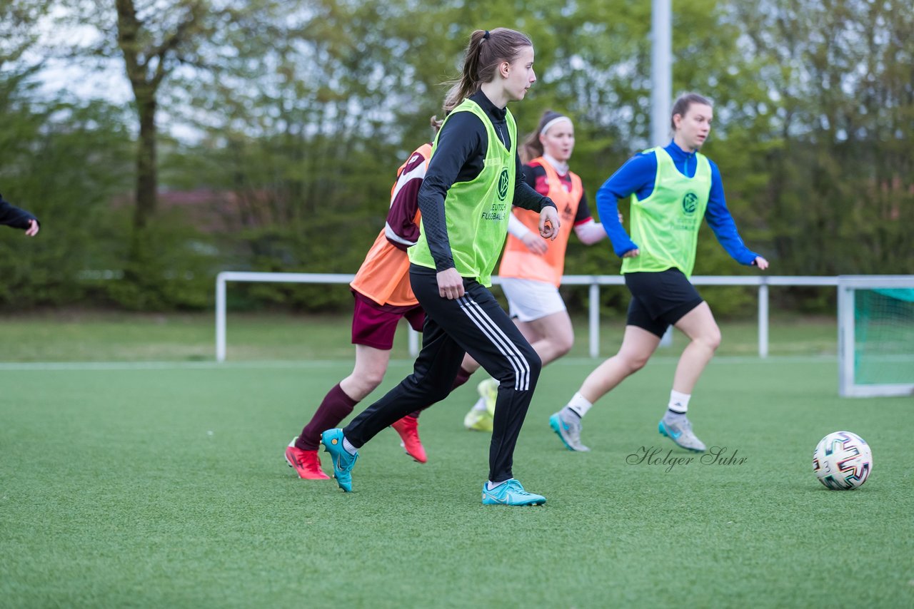
<instances>
[{"instance_id":1,"label":"white metal railing running behind the players","mask_svg":"<svg viewBox=\"0 0 914 609\"><path fill-rule=\"evenodd\" d=\"M226 284L239 282L272 283L343 283L347 284L355 275L342 273L254 273L223 271L216 276L216 361L226 359ZM497 277L492 278L498 283ZM692 277L696 286L758 286L759 288L759 357L768 357L768 288L769 286L791 287L837 287L837 277L809 276L711 276ZM566 275L562 278L565 286L590 286L588 296L588 318L590 357L600 355L600 286L622 286L622 275ZM419 352L419 334L409 329L409 353Z\"/></svg>"}]
</instances>

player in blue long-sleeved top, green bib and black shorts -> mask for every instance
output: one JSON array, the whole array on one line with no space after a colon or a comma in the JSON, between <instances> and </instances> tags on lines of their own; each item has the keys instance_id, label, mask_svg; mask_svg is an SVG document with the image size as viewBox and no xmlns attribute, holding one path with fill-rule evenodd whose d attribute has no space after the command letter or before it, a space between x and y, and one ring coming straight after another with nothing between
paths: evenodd
<instances>
[{"instance_id":1,"label":"player in blue long-sleeved top, green bib and black shorts","mask_svg":"<svg viewBox=\"0 0 914 609\"><path fill-rule=\"evenodd\" d=\"M622 257L632 301L619 352L590 373L569 403L549 418L569 450L589 450L580 441L581 418L600 397L643 368L672 325L689 343L676 366L658 429L676 445L704 452L706 446L686 416L698 377L720 344L717 321L689 281L702 218L737 262L768 268L768 261L749 251L739 237L717 165L698 152L711 130L711 102L686 93L675 101L672 114L673 142L636 154L597 192L600 219L613 250ZM617 202L624 197L632 201L631 237L618 221Z\"/></svg>"}]
</instances>

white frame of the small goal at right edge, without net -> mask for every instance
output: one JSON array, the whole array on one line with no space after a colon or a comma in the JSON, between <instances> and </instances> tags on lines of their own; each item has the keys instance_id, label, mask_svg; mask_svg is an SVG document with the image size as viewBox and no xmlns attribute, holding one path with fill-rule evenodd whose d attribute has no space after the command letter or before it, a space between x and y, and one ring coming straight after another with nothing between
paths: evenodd
<instances>
[{"instance_id":1,"label":"white frame of the small goal at right edge, without net","mask_svg":"<svg viewBox=\"0 0 914 609\"><path fill-rule=\"evenodd\" d=\"M842 275L838 277L838 393L842 397L914 395L914 383L856 383L855 292L857 289L914 289L914 275Z\"/></svg>"}]
</instances>

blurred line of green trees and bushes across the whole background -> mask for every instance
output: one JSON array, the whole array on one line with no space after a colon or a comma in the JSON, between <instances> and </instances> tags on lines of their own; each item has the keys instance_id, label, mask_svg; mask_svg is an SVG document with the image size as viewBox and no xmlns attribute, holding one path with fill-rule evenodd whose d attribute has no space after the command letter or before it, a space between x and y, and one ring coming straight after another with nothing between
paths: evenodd
<instances>
[{"instance_id":1,"label":"blurred line of green trees and bushes across the whole background","mask_svg":"<svg viewBox=\"0 0 914 609\"><path fill-rule=\"evenodd\" d=\"M0 307L197 310L223 269L354 272L395 169L431 137L467 38L494 26L536 46L538 81L512 106L519 131L547 108L572 117L572 168L592 204L654 143L650 3L531 1L518 13L478 0L8 0L0 192L43 230L27 245L0 236ZM914 272L911 31L914 7L894 0L674 3L674 90L714 100L703 152L772 272ZM75 75L116 66L132 103L48 93L50 59ZM748 272L703 237L696 274ZM619 265L609 247L572 239L566 272ZM349 299L321 287L232 291L250 308ZM832 304L821 291L789 298ZM741 289L721 300L724 314L751 306Z\"/></svg>"}]
</instances>

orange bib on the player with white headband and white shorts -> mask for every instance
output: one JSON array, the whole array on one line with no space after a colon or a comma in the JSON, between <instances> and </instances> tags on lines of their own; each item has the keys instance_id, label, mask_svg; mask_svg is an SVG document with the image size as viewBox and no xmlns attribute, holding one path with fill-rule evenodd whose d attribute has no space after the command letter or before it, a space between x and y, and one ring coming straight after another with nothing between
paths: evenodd
<instances>
[{"instance_id":1,"label":"orange bib on the player with white headband and white shorts","mask_svg":"<svg viewBox=\"0 0 914 609\"><path fill-rule=\"evenodd\" d=\"M499 277L546 281L558 288L562 282L562 273L565 272L565 248L568 246L571 229L574 228L574 219L578 214L578 205L581 194L584 193L584 186L576 173L569 172L571 190L570 192L566 190L556 170L543 157L537 157L529 164L540 165L546 170L549 186L547 196L558 207L561 226L558 227L558 236L555 241L545 239L548 249L542 256L527 249L524 242L517 237L508 235L498 275ZM535 235L539 235L539 214L537 212L515 207L512 213Z\"/></svg>"}]
</instances>

